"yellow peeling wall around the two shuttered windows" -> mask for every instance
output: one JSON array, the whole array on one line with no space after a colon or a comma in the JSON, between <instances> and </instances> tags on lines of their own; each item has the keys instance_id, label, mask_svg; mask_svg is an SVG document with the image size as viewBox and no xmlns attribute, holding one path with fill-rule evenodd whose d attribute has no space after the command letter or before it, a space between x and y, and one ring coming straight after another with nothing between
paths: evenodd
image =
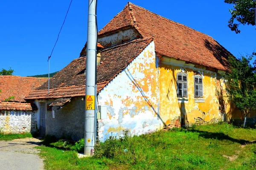
<instances>
[{"instance_id":1,"label":"yellow peeling wall around the two shuttered windows","mask_svg":"<svg viewBox=\"0 0 256 170\"><path fill-rule=\"evenodd\" d=\"M218 122L230 110L227 99L220 105L219 93L225 89L217 73L204 68L196 68L184 61L163 57L160 61L160 113L164 122L180 119L185 125ZM177 73L185 72L188 78L188 97L177 97ZM194 97L194 75L203 77L203 98ZM223 108L223 109L221 109Z\"/></svg>"}]
</instances>

